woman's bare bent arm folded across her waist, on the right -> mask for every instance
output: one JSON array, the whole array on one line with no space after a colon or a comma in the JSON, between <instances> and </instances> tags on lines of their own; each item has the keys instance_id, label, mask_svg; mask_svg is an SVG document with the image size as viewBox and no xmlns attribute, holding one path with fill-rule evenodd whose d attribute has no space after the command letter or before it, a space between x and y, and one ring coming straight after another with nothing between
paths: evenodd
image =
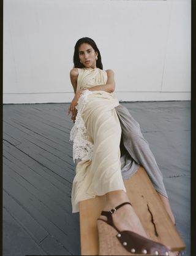
<instances>
[{"instance_id":1,"label":"woman's bare bent arm folded across her waist, on the right","mask_svg":"<svg viewBox=\"0 0 196 256\"><path fill-rule=\"evenodd\" d=\"M115 73L112 69L107 69L107 83L103 85L95 85L93 87L88 88L89 91L107 91L108 93L112 93L115 91ZM84 89L78 91L78 95L82 93Z\"/></svg>"}]
</instances>

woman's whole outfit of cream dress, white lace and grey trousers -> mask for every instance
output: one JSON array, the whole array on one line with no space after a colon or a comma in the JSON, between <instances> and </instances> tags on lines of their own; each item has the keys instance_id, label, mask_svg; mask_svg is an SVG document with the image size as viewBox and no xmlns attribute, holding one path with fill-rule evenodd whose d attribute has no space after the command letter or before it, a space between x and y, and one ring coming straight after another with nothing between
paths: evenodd
<instances>
[{"instance_id":1,"label":"woman's whole outfit of cream dress, white lace and grey trousers","mask_svg":"<svg viewBox=\"0 0 196 256\"><path fill-rule=\"evenodd\" d=\"M140 165L147 169L157 192L168 197L148 142L129 111L119 104L115 92L88 90L105 83L106 71L78 69L77 91L86 90L78 99L77 117L70 131L76 165L72 212L79 211L79 201L115 190L126 192L124 180L134 175Z\"/></svg>"}]
</instances>

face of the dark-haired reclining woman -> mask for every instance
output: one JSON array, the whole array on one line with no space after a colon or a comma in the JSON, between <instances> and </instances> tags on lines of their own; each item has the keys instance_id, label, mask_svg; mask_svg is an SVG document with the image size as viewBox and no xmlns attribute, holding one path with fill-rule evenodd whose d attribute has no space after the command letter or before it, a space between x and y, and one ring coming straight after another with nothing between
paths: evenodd
<instances>
[{"instance_id":1,"label":"face of the dark-haired reclining woman","mask_svg":"<svg viewBox=\"0 0 196 256\"><path fill-rule=\"evenodd\" d=\"M85 66L85 68L96 68L96 56L94 48L90 44L83 43L78 48L78 55L80 62Z\"/></svg>"}]
</instances>

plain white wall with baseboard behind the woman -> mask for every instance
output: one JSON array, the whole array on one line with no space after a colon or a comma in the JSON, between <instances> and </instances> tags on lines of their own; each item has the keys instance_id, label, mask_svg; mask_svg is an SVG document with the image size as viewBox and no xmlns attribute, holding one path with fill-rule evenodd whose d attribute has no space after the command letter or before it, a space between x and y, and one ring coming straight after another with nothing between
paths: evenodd
<instances>
[{"instance_id":1,"label":"plain white wall with baseboard behind the woman","mask_svg":"<svg viewBox=\"0 0 196 256\"><path fill-rule=\"evenodd\" d=\"M190 0L4 0L4 103L70 102L84 36L119 100L190 100Z\"/></svg>"}]
</instances>

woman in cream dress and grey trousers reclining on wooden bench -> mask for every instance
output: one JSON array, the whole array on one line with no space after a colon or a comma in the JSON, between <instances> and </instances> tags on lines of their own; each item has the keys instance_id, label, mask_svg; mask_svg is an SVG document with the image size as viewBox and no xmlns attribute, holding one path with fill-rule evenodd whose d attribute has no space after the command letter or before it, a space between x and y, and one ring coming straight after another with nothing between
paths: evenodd
<instances>
[{"instance_id":1,"label":"woman in cream dress and grey trousers reclining on wooden bench","mask_svg":"<svg viewBox=\"0 0 196 256\"><path fill-rule=\"evenodd\" d=\"M148 142L129 111L119 104L114 92L114 72L111 69L103 70L99 49L89 37L79 39L75 45L70 80L75 93L69 106L74 122L70 140L74 141L76 164L72 212L78 212L79 201L106 195L107 204L97 220L99 241L107 240L104 230L112 236L116 229L118 238L115 235L112 237L116 244L115 239L120 240L123 235L121 231L129 230L132 231L126 234L129 244L117 244L113 248L114 252L123 255L124 250L128 250L143 255L178 255L168 252L170 248L147 239L129 202L123 180L131 177L142 165L175 223L162 174ZM139 244L137 249L134 249L134 244L132 246L132 241ZM107 249L100 248L99 254L107 252Z\"/></svg>"}]
</instances>

